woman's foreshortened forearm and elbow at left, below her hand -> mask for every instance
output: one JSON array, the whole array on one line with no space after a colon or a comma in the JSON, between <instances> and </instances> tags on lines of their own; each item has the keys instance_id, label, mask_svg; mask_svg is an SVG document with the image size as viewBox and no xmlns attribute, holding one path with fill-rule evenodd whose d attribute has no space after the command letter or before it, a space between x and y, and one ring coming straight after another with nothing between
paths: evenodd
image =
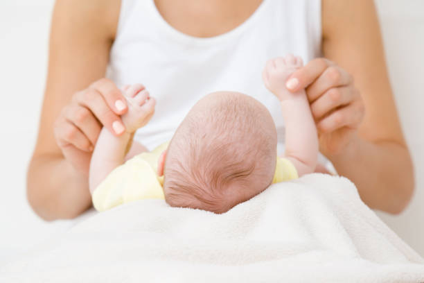
<instances>
[{"instance_id":1,"label":"woman's foreshortened forearm and elbow at left, below her hand","mask_svg":"<svg viewBox=\"0 0 424 283\"><path fill-rule=\"evenodd\" d=\"M75 218L91 206L87 175L62 155L39 155L28 168L27 196L44 220Z\"/></svg>"}]
</instances>

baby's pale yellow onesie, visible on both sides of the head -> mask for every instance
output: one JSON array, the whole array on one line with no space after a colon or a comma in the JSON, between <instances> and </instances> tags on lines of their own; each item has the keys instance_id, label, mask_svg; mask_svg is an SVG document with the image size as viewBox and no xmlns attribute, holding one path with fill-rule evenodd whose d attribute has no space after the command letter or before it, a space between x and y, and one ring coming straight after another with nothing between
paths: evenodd
<instances>
[{"instance_id":1,"label":"baby's pale yellow onesie, visible on both sides of the head","mask_svg":"<svg viewBox=\"0 0 424 283\"><path fill-rule=\"evenodd\" d=\"M103 212L132 200L164 199L164 176L157 175L157 162L161 153L168 148L168 144L169 142L161 144L150 153L136 155L109 173L93 193L94 208ZM297 170L292 162L277 157L272 183L297 178Z\"/></svg>"}]
</instances>

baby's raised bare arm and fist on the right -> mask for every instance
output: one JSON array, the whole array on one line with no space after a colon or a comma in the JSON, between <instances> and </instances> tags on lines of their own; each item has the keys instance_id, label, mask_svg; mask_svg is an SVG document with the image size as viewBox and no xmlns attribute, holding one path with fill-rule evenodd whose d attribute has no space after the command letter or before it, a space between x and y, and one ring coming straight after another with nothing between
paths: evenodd
<instances>
[{"instance_id":1,"label":"baby's raised bare arm and fist on the right","mask_svg":"<svg viewBox=\"0 0 424 283\"><path fill-rule=\"evenodd\" d=\"M281 103L285 122L285 158L294 164L299 176L315 171L319 149L317 128L305 90L292 94L285 87L288 77L302 65L301 58L288 55L269 60L263 71L265 86Z\"/></svg>"}]
</instances>

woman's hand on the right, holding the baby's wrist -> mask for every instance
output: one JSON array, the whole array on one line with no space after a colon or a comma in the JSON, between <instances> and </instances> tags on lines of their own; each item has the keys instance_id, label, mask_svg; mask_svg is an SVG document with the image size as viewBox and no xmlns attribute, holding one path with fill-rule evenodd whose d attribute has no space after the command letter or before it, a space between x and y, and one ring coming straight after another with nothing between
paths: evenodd
<instances>
[{"instance_id":1,"label":"woman's hand on the right, holding the baby's wrist","mask_svg":"<svg viewBox=\"0 0 424 283\"><path fill-rule=\"evenodd\" d=\"M290 92L306 88L324 155L342 152L364 118L364 103L347 71L324 58L310 61L286 83Z\"/></svg>"}]
</instances>

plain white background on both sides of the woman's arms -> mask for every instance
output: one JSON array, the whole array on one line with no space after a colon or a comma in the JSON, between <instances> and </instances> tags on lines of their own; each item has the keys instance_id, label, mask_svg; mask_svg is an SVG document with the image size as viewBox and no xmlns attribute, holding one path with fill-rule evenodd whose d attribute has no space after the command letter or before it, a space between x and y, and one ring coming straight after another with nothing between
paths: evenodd
<instances>
[{"instance_id":1,"label":"plain white background on both sides of the woman's arms","mask_svg":"<svg viewBox=\"0 0 424 283\"><path fill-rule=\"evenodd\" d=\"M0 264L73 224L40 220L25 193L44 92L53 2L0 1ZM377 4L389 74L416 173L416 193L405 212L378 215L424 255L424 1Z\"/></svg>"}]
</instances>

